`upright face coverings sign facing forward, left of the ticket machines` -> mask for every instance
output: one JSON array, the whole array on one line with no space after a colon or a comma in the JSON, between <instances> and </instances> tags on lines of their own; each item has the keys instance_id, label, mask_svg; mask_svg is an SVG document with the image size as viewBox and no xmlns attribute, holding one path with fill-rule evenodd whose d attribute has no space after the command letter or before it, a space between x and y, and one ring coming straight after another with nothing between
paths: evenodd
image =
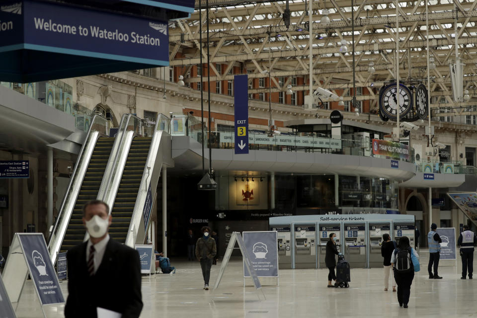
<instances>
[{"instance_id":1,"label":"upright face coverings sign facing forward, left of the ticket machines","mask_svg":"<svg viewBox=\"0 0 477 318\"><path fill-rule=\"evenodd\" d=\"M243 232L243 241L258 277L278 277L277 232ZM243 277L249 276L243 266Z\"/></svg>"}]
</instances>

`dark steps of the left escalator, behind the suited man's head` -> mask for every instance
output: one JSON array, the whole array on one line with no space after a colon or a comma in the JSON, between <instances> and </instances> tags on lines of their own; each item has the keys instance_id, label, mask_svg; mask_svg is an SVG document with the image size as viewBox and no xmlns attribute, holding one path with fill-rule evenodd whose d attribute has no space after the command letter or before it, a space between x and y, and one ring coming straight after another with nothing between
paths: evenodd
<instances>
[{"instance_id":1,"label":"dark steps of the left escalator, behind the suited man's head","mask_svg":"<svg viewBox=\"0 0 477 318\"><path fill-rule=\"evenodd\" d=\"M113 143L114 138L100 137L96 141L83 182L78 192L78 197L76 199L75 207L63 243L61 244L60 252L67 251L71 247L81 243L84 239L86 230L84 229L81 220L83 217L82 208L86 202L96 200L97 198Z\"/></svg>"}]
</instances>

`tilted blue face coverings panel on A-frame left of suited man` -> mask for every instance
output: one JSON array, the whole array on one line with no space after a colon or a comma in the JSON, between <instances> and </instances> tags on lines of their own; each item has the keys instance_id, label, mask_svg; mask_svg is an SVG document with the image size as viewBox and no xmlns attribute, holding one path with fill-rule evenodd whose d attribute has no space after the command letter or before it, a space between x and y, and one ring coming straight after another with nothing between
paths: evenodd
<instances>
[{"instance_id":1,"label":"tilted blue face coverings panel on A-frame left of suited man","mask_svg":"<svg viewBox=\"0 0 477 318\"><path fill-rule=\"evenodd\" d=\"M65 302L60 282L50 259L45 238L41 233L17 233L23 256L35 285L40 303L54 305Z\"/></svg>"}]
</instances>

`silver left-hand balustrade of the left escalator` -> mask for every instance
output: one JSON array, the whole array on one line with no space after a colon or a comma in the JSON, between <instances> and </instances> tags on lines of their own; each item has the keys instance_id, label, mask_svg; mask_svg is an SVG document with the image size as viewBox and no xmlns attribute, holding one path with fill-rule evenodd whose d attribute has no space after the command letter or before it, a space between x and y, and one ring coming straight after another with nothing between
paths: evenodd
<instances>
[{"instance_id":1,"label":"silver left-hand balustrade of the left escalator","mask_svg":"<svg viewBox=\"0 0 477 318\"><path fill-rule=\"evenodd\" d=\"M105 123L105 131L104 132L101 132L101 131L98 131L96 130L96 122L97 121L103 121ZM56 258L56 252L58 252L58 250L56 250L53 254L52 254L52 240L54 239L57 239L58 238L58 235L57 235L57 232L60 231L61 229L59 229L59 226L60 226L60 222L62 222L63 225L66 224L66 227L68 227L68 223L70 222L70 218L71 218L71 212L69 213L69 216L68 216L68 222L65 223L63 222L63 219L65 218L65 205L67 204L67 202L69 201L70 196L71 195L76 195L76 197L78 196L78 193L76 194L73 194L72 191L73 191L73 184L74 182L76 181L77 179L77 174L78 174L78 167L79 165L83 162L83 159L84 159L84 156L86 156L85 154L85 149L86 149L86 145L89 145L89 142L90 142L90 139L92 139L92 136L93 134L95 135L95 141L94 141L94 145L96 144L96 141L97 141L97 138L99 137L99 135L103 135L103 136L107 136L107 132L108 132L108 122L106 120L106 118L102 117L102 116L99 116L99 115L94 115L93 119L91 120L91 125L89 126L89 129L88 129L88 133L86 135L86 138L83 142L83 144L81 145L81 149L79 151L79 155L78 155L78 159L75 163L75 167L73 169L73 172L70 176L70 181L68 183L68 187L67 187L67 190L65 192L65 195L63 197L63 200L62 200L62 203L61 203L61 206L60 206L60 209L58 210L58 215L57 215L57 218L56 218L56 221L55 221L55 225L48 237L48 249L49 249L49 252L50 252L50 258L52 259L52 261L54 261L54 259ZM94 147L93 147L93 150L94 150ZM89 159L91 159L91 155L92 155L92 151L91 153L89 154ZM89 162L89 160L88 160ZM86 170L84 171L84 174L86 173ZM79 176L81 177L81 183L82 183L82 178L84 178L84 174L82 176ZM76 200L75 200L76 201ZM62 239L64 238L65 236L65 233L66 233L66 228L63 229L63 235L62 235ZM60 246L57 246L57 248L59 248Z\"/></svg>"}]
</instances>

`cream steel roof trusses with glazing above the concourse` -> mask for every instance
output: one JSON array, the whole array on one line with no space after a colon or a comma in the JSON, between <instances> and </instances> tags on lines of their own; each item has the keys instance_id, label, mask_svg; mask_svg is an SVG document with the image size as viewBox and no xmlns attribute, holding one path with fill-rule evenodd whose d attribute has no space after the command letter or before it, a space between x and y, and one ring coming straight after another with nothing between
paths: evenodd
<instances>
[{"instance_id":1,"label":"cream steel roof trusses with glazing above the concourse","mask_svg":"<svg viewBox=\"0 0 477 318\"><path fill-rule=\"evenodd\" d=\"M290 26L283 21L286 1L209 0L209 42L211 81L233 78L232 67L246 70L249 79L272 79L272 92L286 91L295 76L305 84L294 91L308 94L309 77L309 0L290 0ZM352 18L354 9L354 47L356 86L367 87L370 95L358 99L371 100L377 107L379 88L396 80L396 59L399 80L404 83L427 82L427 37L425 1L394 0L319 0L313 1L313 80L318 86L337 95L346 95L353 87ZM192 65L200 63L199 1L190 18L169 24L170 66L180 66L186 82ZM429 0L429 52L436 68L430 70L430 94L440 96L431 107L446 116L477 114L477 0ZM328 9L330 22L323 24L322 10ZM398 20L399 50L396 50ZM206 57L206 10L202 0L203 63ZM458 57L464 64L464 90L468 102L455 102L450 78L450 64ZM348 51L340 53L340 41L346 40ZM181 53L180 57L177 53ZM370 62L375 72L368 73ZM216 71L216 64L225 64L226 72ZM278 80L277 78L283 78ZM268 88L250 89L249 93L268 92ZM349 100L351 97L344 98Z\"/></svg>"}]
</instances>

